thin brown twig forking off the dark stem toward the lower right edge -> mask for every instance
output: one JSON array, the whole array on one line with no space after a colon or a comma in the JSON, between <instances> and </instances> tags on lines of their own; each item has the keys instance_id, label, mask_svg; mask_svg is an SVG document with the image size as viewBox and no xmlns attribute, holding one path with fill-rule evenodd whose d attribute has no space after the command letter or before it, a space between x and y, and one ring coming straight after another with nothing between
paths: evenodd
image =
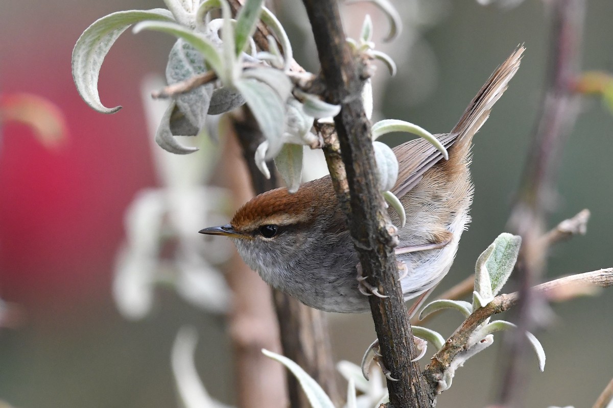
<instances>
[{"instance_id":1,"label":"thin brown twig forking off the dark stem toward the lower right edge","mask_svg":"<svg viewBox=\"0 0 613 408\"><path fill-rule=\"evenodd\" d=\"M565 276L539 284L533 287L531 291L542 295L549 302L561 302L571 297L593 293L595 287L611 286L613 286L613 268L608 268ZM591 291L588 289L591 289ZM454 358L470 346L467 342L474 330L488 317L516 306L519 300L519 292L498 295L492 302L473 311L470 316L466 317L466 320L447 339L443 348L432 357L432 361L424 370L424 376L432 387L436 387L436 382L441 378L443 372L451 366Z\"/></svg>"}]
</instances>

